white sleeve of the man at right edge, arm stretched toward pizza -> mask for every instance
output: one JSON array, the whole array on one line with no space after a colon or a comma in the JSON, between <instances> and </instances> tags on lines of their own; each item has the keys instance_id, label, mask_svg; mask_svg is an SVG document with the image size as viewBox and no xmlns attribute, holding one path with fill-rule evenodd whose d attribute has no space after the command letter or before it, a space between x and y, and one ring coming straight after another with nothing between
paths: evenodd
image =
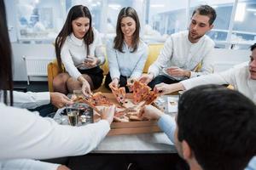
<instances>
[{"instance_id":1,"label":"white sleeve of the man at right edge, arm stretched toward pizza","mask_svg":"<svg viewBox=\"0 0 256 170\"><path fill-rule=\"evenodd\" d=\"M210 75L205 75L201 77L190 78L188 80L184 80L181 83L183 84L184 88L190 89L194 88L195 86L204 85L204 84L235 84L235 75L234 69L230 69L228 71L214 73Z\"/></svg>"}]
</instances>

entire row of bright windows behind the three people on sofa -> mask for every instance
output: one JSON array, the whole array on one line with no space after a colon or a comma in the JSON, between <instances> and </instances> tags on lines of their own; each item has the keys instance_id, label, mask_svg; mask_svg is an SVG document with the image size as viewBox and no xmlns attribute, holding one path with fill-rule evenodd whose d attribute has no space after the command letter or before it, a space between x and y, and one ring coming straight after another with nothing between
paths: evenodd
<instances>
[{"instance_id":1,"label":"entire row of bright windows behind the three people on sofa","mask_svg":"<svg viewBox=\"0 0 256 170\"><path fill-rule=\"evenodd\" d=\"M256 42L255 0L13 0L19 42L53 42L61 31L69 8L83 4L90 9L92 26L103 40L115 36L121 8L137 10L141 37L148 42L165 42L172 33L188 28L195 7L208 4L217 19L208 32L218 48L247 48Z\"/></svg>"}]
</instances>

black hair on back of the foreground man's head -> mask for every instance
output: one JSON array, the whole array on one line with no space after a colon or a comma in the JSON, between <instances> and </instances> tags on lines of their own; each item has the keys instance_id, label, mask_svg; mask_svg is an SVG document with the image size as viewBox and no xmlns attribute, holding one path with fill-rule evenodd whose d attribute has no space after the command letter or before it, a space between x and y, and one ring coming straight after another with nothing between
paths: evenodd
<instances>
[{"instance_id":1,"label":"black hair on back of the foreground man's head","mask_svg":"<svg viewBox=\"0 0 256 170\"><path fill-rule=\"evenodd\" d=\"M185 140L204 170L241 170L256 154L256 106L218 85L185 92L178 102L177 139Z\"/></svg>"}]
</instances>

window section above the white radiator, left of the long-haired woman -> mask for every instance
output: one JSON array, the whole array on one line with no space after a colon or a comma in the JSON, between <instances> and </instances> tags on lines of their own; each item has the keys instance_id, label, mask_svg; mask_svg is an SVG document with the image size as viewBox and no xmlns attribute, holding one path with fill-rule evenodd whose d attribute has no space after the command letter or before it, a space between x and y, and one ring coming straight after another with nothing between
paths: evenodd
<instances>
[{"instance_id":1,"label":"window section above the white radiator, left of the long-haired woman","mask_svg":"<svg viewBox=\"0 0 256 170\"><path fill-rule=\"evenodd\" d=\"M17 0L16 9L20 42L52 41L62 26L65 3L61 0Z\"/></svg>"}]
</instances>

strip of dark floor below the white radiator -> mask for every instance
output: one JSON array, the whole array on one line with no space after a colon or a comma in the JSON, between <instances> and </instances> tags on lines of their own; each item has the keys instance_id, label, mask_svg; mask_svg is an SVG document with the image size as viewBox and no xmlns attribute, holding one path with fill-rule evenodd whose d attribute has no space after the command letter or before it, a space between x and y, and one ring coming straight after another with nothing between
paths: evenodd
<instances>
[{"instance_id":1,"label":"strip of dark floor below the white radiator","mask_svg":"<svg viewBox=\"0 0 256 170\"><path fill-rule=\"evenodd\" d=\"M30 82L29 85L24 82L14 82L14 88L17 91L47 92L48 82Z\"/></svg>"}]
</instances>

